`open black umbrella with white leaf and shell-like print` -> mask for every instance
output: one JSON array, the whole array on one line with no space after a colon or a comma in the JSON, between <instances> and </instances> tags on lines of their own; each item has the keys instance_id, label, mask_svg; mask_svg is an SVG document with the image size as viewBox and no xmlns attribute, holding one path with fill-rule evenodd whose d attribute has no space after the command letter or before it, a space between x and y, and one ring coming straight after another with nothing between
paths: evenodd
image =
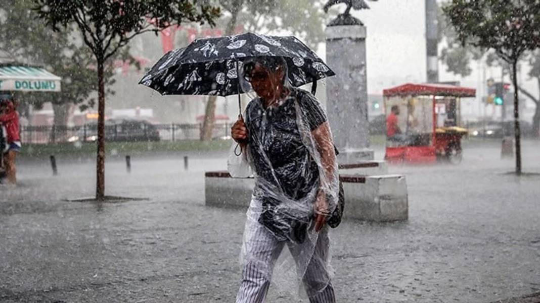
<instances>
[{"instance_id":1,"label":"open black umbrella with white leaf and shell-like print","mask_svg":"<svg viewBox=\"0 0 540 303\"><path fill-rule=\"evenodd\" d=\"M139 84L162 95L217 95L243 93L239 66L254 57L282 57L291 84L301 86L335 73L315 52L293 36L244 33L197 39L185 48L166 53ZM240 97L239 97L240 99Z\"/></svg>"}]
</instances>

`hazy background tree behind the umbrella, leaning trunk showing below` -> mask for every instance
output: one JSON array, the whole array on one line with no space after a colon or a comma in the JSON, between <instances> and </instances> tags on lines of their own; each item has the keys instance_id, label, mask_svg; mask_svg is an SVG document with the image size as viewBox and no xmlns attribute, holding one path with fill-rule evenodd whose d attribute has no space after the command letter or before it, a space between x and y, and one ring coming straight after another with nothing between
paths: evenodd
<instances>
[{"instance_id":1,"label":"hazy background tree behind the umbrella, leaning trunk showing below","mask_svg":"<svg viewBox=\"0 0 540 303\"><path fill-rule=\"evenodd\" d=\"M270 33L276 30L292 32L316 48L324 39L326 15L321 1L313 0L215 0L225 12L218 26L225 28L225 35L234 34L241 24L245 30ZM208 97L201 140L212 138L216 96Z\"/></svg>"}]
</instances>

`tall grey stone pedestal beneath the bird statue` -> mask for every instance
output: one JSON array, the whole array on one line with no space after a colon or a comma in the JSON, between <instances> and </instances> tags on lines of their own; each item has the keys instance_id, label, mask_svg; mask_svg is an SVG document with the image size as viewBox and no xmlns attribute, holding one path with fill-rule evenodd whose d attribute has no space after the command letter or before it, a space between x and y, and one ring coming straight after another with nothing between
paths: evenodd
<instances>
[{"instance_id":1,"label":"tall grey stone pedestal beneath the bird statue","mask_svg":"<svg viewBox=\"0 0 540 303\"><path fill-rule=\"evenodd\" d=\"M366 27L328 26L326 62L336 73L326 80L326 109L340 151L338 162L373 160L373 150L369 149Z\"/></svg>"}]
</instances>

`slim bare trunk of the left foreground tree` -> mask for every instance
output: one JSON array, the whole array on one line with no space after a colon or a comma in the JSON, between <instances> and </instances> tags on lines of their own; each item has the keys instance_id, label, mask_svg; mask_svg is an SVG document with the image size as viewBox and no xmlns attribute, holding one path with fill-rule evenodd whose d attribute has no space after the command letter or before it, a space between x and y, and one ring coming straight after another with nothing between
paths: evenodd
<instances>
[{"instance_id":1,"label":"slim bare trunk of the left foreground tree","mask_svg":"<svg viewBox=\"0 0 540 303\"><path fill-rule=\"evenodd\" d=\"M98 153L96 200L105 199L105 82L103 60L98 58Z\"/></svg>"}]
</instances>

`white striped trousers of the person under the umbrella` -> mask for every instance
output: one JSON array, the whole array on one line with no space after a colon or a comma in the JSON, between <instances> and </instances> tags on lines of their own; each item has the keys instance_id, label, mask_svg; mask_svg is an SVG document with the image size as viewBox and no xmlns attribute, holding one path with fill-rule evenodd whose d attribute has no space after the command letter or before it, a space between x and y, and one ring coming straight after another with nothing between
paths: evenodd
<instances>
[{"instance_id":1,"label":"white striped trousers of the person under the umbrella","mask_svg":"<svg viewBox=\"0 0 540 303\"><path fill-rule=\"evenodd\" d=\"M261 224L254 224L247 238L247 255L242 282L237 294L237 303L262 303L270 285L271 273L285 244L291 255L299 262L300 246L286 241L277 241ZM320 230L313 256L307 264L302 282L311 303L335 303L334 288L330 283L326 260L329 253L328 227ZM306 240L308 241L308 240ZM246 244L246 243L245 243Z\"/></svg>"}]
</instances>

